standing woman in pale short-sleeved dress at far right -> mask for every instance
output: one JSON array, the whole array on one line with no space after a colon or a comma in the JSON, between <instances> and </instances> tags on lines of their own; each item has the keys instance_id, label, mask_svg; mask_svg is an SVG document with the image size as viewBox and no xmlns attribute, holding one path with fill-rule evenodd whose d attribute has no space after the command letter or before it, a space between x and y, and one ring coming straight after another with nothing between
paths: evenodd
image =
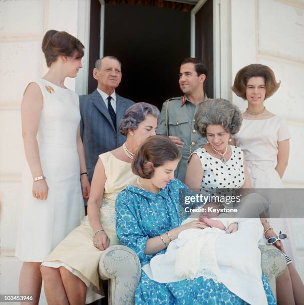
<instances>
[{"instance_id":1,"label":"standing woman in pale short-sleeved dress at far right","mask_svg":"<svg viewBox=\"0 0 304 305\"><path fill-rule=\"evenodd\" d=\"M276 81L272 69L261 64L251 64L242 68L237 73L232 87L238 96L248 102L248 108L242 114L242 127L235 135L235 143L244 151L248 174L254 188L284 187L281 179L288 165L291 134L287 124L264 106L265 99L271 97L279 87L280 82ZM277 237L275 232L279 231L293 236L290 219L271 219L270 222L265 220L263 224L266 238ZM284 243L286 251L281 241L277 241L275 246L293 257L295 246L292 238ZM300 304L304 302L304 286L291 259L287 255L286 258L295 302ZM277 291L280 294L284 289L280 289L280 284L277 284Z\"/></svg>"}]
</instances>

